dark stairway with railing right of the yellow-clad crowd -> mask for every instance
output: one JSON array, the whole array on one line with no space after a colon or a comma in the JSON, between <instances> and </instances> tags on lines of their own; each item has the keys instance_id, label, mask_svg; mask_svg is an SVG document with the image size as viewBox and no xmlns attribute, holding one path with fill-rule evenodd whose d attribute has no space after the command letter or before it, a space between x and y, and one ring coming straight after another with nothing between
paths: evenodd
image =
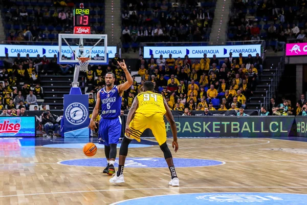
<instances>
[{"instance_id":1,"label":"dark stairway with railing right of the yellow-clad crowd","mask_svg":"<svg viewBox=\"0 0 307 205\"><path fill-rule=\"evenodd\" d=\"M250 97L250 102L247 103L249 110L260 110L261 104L265 103L264 97L266 97L266 92L269 91L274 74L276 75L276 67L278 67L279 62L280 56L266 58L265 64L263 65L263 74L259 75L260 82L254 91L254 95Z\"/></svg>"}]
</instances>

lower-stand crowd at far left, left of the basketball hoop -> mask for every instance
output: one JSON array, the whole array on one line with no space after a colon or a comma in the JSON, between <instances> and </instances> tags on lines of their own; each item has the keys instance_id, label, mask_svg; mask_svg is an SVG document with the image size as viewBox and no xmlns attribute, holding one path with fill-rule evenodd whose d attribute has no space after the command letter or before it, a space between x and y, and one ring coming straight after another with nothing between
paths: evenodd
<instances>
[{"instance_id":1,"label":"lower-stand crowd at far left, left of the basketball hoop","mask_svg":"<svg viewBox=\"0 0 307 205\"><path fill-rule=\"evenodd\" d=\"M21 58L20 54L13 60L6 54L4 68L0 73L0 110L6 110L2 116L23 115L25 110L46 110L45 105L38 106L37 99L43 99L40 87L40 73L48 69L46 56L31 59L29 54ZM40 108L40 109L39 109Z\"/></svg>"}]
</instances>

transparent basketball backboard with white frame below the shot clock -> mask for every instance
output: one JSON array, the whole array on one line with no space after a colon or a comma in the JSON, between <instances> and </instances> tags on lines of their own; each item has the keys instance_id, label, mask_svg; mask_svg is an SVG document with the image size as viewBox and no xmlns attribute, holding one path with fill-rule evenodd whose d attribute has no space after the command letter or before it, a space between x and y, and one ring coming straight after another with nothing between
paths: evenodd
<instances>
[{"instance_id":1,"label":"transparent basketball backboard with white frame below the shot clock","mask_svg":"<svg viewBox=\"0 0 307 205\"><path fill-rule=\"evenodd\" d=\"M58 64L78 64L79 57L90 58L90 64L108 64L107 35L59 34Z\"/></svg>"}]
</instances>

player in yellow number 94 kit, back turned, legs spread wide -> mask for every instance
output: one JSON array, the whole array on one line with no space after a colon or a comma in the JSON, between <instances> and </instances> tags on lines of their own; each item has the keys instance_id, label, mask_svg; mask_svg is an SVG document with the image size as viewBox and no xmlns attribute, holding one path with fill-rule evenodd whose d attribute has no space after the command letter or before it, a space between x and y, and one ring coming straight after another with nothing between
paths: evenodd
<instances>
[{"instance_id":1,"label":"player in yellow number 94 kit, back turned, legs spread wide","mask_svg":"<svg viewBox=\"0 0 307 205\"><path fill-rule=\"evenodd\" d=\"M161 94L154 93L154 86L151 81L146 81L143 85L143 92L135 97L132 107L129 110L125 137L119 150L118 171L109 181L111 183L124 183L124 165L128 153L128 145L133 139L141 141L141 134L149 128L159 143L167 162L171 180L169 185L179 187L179 179L173 165L172 155L166 144L166 129L164 115L169 121L173 134L172 147L175 152L178 150L177 127L166 100Z\"/></svg>"}]
</instances>

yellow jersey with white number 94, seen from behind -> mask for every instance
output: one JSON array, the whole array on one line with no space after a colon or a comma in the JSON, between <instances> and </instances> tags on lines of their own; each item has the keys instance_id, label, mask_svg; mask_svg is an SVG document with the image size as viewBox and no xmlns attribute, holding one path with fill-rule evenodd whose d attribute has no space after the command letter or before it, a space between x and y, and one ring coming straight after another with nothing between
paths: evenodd
<instances>
[{"instance_id":1,"label":"yellow jersey with white number 94, seen from behind","mask_svg":"<svg viewBox=\"0 0 307 205\"><path fill-rule=\"evenodd\" d=\"M145 115L146 117L156 113L166 113L164 101L161 94L151 91L141 92L138 94L139 107L136 113Z\"/></svg>"}]
</instances>

